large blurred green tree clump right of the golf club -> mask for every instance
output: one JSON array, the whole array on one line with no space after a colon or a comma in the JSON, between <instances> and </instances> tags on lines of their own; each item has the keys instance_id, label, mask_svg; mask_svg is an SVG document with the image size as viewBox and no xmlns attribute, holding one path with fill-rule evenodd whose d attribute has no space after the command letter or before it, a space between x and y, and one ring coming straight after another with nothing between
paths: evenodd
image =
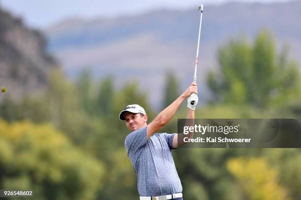
<instances>
[{"instance_id":1,"label":"large blurred green tree clump right of the golf club","mask_svg":"<svg viewBox=\"0 0 301 200\"><path fill-rule=\"evenodd\" d=\"M287 48L276 54L268 31L260 32L253 46L243 37L231 40L219 49L218 61L220 73L208 76L215 101L266 107L298 97L298 66L288 60Z\"/></svg>"}]
</instances>

